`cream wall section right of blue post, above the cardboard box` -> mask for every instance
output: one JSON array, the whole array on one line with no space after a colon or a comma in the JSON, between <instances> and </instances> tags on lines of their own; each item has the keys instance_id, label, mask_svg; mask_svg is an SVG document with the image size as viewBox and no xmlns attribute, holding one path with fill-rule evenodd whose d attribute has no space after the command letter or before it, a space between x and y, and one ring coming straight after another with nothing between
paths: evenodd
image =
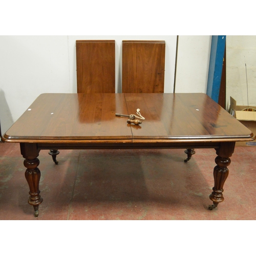
<instances>
[{"instance_id":1,"label":"cream wall section right of blue post, above the cardboard box","mask_svg":"<svg viewBox=\"0 0 256 256\"><path fill-rule=\"evenodd\" d=\"M226 37L226 102L230 96L237 105L256 106L256 36L228 35ZM246 68L245 68L246 63ZM246 82L247 72L247 82ZM248 101L247 101L248 83Z\"/></svg>"}]
</instances>

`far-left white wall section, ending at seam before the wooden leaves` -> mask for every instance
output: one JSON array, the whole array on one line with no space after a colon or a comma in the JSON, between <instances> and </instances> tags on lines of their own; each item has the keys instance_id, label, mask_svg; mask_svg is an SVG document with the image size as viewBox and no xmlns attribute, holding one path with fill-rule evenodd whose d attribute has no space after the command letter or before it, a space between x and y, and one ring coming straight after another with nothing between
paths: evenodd
<instances>
[{"instance_id":1,"label":"far-left white wall section, ending at seam before the wooden leaves","mask_svg":"<svg viewBox=\"0 0 256 256\"><path fill-rule=\"evenodd\" d=\"M46 92L70 92L67 36L0 36L2 133Z\"/></svg>"}]
</instances>

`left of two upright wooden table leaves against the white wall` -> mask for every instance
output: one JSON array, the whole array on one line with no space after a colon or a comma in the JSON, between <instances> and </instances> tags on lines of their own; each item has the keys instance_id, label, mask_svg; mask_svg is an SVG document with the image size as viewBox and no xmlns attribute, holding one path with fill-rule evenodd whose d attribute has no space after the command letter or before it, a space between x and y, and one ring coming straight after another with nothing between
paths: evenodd
<instances>
[{"instance_id":1,"label":"left of two upright wooden table leaves against the white wall","mask_svg":"<svg viewBox=\"0 0 256 256\"><path fill-rule=\"evenodd\" d=\"M76 40L77 93L115 93L115 40Z\"/></svg>"}]
</instances>

